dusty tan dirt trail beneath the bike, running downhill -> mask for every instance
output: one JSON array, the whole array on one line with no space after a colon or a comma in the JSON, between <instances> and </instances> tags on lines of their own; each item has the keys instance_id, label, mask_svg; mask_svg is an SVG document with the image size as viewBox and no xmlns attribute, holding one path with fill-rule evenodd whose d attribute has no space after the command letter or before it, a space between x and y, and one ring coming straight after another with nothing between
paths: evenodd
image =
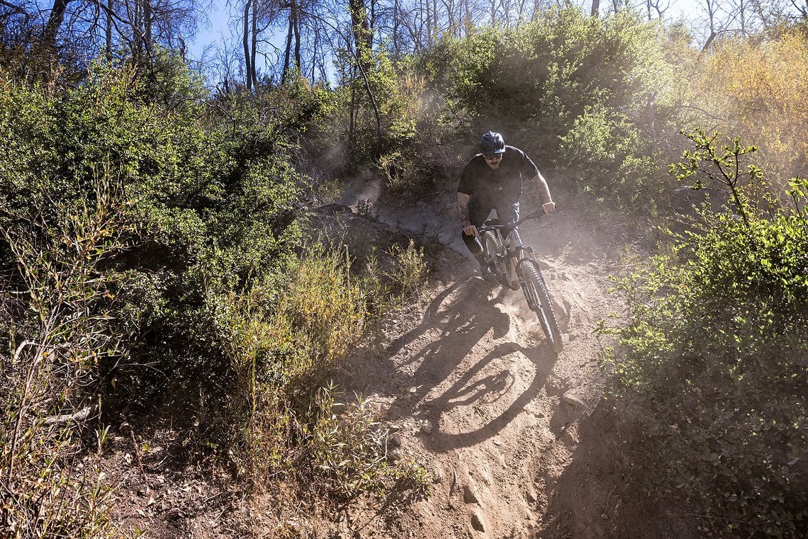
<instances>
[{"instance_id":1,"label":"dusty tan dirt trail beneath the bike, running downhill","mask_svg":"<svg viewBox=\"0 0 808 539\"><path fill-rule=\"evenodd\" d=\"M451 236L452 208L433 215ZM607 276L627 236L569 207L533 223L522 237L558 302L558 357L520 291L483 282L467 255L446 249L429 297L351 362L351 388L372 395L401 454L436 476L431 498L392 529L357 515L358 537L667 536L647 518L651 504L629 482L614 418L599 406L605 343L592 332L621 311Z\"/></svg>"}]
</instances>

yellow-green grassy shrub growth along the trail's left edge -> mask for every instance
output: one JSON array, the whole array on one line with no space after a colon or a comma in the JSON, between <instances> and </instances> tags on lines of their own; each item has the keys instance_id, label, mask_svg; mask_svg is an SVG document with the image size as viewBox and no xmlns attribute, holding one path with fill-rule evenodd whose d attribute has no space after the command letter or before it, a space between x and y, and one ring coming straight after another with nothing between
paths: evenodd
<instances>
[{"instance_id":1,"label":"yellow-green grassy shrub growth along the trail's left edge","mask_svg":"<svg viewBox=\"0 0 808 539\"><path fill-rule=\"evenodd\" d=\"M418 266L412 249L394 257ZM367 401L339 403L325 382L372 323L378 307L370 303L384 296L373 290L379 281L349 268L343 249L314 244L279 298L261 286L220 298L214 322L234 373L217 423L235 425L229 446L241 473L256 491L295 483L302 503L331 518L366 495L385 498L393 487L423 494L428 483L422 467L385 458L386 431Z\"/></svg>"}]
</instances>

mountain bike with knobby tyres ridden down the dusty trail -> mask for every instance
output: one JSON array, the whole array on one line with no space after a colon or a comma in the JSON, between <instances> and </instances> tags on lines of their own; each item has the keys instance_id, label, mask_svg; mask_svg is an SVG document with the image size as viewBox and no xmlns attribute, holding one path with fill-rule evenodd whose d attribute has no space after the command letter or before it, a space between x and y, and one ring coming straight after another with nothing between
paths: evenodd
<instances>
[{"instance_id":1,"label":"mountain bike with knobby tyres ridden down the dusty trail","mask_svg":"<svg viewBox=\"0 0 808 539\"><path fill-rule=\"evenodd\" d=\"M519 225L529 219L539 219L543 211L535 211L522 219L508 223L499 223L499 219L488 219L478 228L481 234L483 254L491 273L503 288L522 289L528 307L539 318L541 329L555 353L564 349L561 329L553 313L553 299L550 297L547 283L541 274L539 263L533 257L532 247L522 243ZM503 236L504 234L504 236Z\"/></svg>"}]
</instances>

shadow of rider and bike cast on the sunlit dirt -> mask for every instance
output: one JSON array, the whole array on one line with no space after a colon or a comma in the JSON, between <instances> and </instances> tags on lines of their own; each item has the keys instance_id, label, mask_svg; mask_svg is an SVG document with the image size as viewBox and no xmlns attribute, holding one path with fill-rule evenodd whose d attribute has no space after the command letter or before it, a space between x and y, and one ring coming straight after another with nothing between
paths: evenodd
<instances>
[{"instance_id":1,"label":"shadow of rider and bike cast on the sunlit dirt","mask_svg":"<svg viewBox=\"0 0 808 539\"><path fill-rule=\"evenodd\" d=\"M391 415L430 420L424 443L439 452L496 436L539 394L555 359L545 341L512 341L511 324L502 292L477 278L443 290L386 350L398 354L391 361L409 386L394 397ZM466 411L459 421L444 421L458 408Z\"/></svg>"}]
</instances>

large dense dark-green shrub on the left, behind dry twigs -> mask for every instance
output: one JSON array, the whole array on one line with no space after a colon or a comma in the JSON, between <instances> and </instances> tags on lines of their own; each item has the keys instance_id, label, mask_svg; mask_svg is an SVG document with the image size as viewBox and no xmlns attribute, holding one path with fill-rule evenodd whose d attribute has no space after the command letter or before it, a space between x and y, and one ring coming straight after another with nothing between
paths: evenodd
<instances>
[{"instance_id":1,"label":"large dense dark-green shrub on the left, behind dry twigs","mask_svg":"<svg viewBox=\"0 0 808 539\"><path fill-rule=\"evenodd\" d=\"M123 247L94 271L125 276L107 308L137 341L116 363L112 399L144 404L166 386L217 391L225 360L207 325L208 299L250 279L280 290L300 246L294 205L302 180L277 144L262 142L284 126L264 115L253 136L233 139L229 124L202 123L199 105L166 111L149 102L147 86L126 66L101 68L59 98L11 81L0 90L0 147L8 156L0 165L0 221L11 235L0 243L5 268L18 263L13 238L31 236L33 252L68 249L44 241L77 215L92 216L104 195L98 178L112 178L116 204L128 213L103 230ZM49 271L64 281L69 269ZM35 339L24 320L15 324L15 340ZM137 367L143 364L156 368Z\"/></svg>"}]
</instances>

